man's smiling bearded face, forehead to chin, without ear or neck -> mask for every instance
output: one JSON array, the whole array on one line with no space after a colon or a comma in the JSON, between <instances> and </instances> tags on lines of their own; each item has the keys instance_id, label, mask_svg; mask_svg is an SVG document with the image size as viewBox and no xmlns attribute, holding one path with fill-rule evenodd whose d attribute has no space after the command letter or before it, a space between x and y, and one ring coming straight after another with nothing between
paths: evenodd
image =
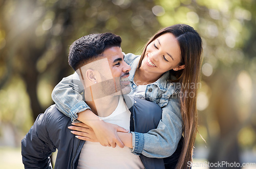
<instances>
[{"instance_id":1,"label":"man's smiling bearded face, forehead to chin, without ear or neck","mask_svg":"<svg viewBox=\"0 0 256 169\"><path fill-rule=\"evenodd\" d=\"M123 60L120 47L111 47L102 53L102 57L108 59L109 66L101 71L101 87L105 94L120 95L128 94L131 91L129 71L131 67ZM110 68L111 74L108 69ZM122 92L121 92L122 91Z\"/></svg>"}]
</instances>

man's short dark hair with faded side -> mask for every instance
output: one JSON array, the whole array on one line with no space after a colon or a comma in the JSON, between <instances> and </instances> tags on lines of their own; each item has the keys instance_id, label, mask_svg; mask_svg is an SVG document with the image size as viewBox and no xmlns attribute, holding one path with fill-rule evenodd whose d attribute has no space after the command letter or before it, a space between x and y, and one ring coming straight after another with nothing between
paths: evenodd
<instances>
[{"instance_id":1,"label":"man's short dark hair with faded side","mask_svg":"<svg viewBox=\"0 0 256 169\"><path fill-rule=\"evenodd\" d=\"M90 34L74 41L69 49L69 65L77 70L110 47L121 46L121 37L113 33Z\"/></svg>"}]
</instances>

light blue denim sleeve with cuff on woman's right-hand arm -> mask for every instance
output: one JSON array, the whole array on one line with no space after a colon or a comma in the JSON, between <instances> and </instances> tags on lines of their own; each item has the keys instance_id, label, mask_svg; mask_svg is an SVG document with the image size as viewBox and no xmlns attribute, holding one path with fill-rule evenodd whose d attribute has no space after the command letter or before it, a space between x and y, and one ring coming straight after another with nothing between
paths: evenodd
<instances>
[{"instance_id":1,"label":"light blue denim sleeve with cuff on woman's right-hand arm","mask_svg":"<svg viewBox=\"0 0 256 169\"><path fill-rule=\"evenodd\" d=\"M132 132L132 134L134 154L153 158L172 155L182 135L182 117L178 99L171 96L168 104L162 107L162 119L157 129L147 133Z\"/></svg>"}]
</instances>

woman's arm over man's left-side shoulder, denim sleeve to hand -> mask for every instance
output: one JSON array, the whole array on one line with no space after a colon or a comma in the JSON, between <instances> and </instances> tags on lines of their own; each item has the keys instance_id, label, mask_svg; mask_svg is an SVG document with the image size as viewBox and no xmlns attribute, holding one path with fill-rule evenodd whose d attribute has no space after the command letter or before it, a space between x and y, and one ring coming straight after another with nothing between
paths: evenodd
<instances>
[{"instance_id":1,"label":"woman's arm over man's left-side shoulder, denim sleeve to hand","mask_svg":"<svg viewBox=\"0 0 256 169\"><path fill-rule=\"evenodd\" d=\"M63 78L53 89L52 99L63 114L69 116L72 122L83 122L92 127L102 146L123 147L117 136L117 131L127 132L117 125L109 125L95 115L82 100L83 85L77 73ZM79 120L79 121L78 121Z\"/></svg>"}]
</instances>

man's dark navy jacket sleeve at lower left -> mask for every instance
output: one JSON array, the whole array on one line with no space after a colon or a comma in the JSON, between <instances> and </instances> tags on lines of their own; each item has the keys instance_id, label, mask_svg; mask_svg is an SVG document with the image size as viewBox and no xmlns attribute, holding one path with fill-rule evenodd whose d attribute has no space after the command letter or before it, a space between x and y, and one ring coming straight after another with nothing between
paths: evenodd
<instances>
[{"instance_id":1,"label":"man's dark navy jacket sleeve at lower left","mask_svg":"<svg viewBox=\"0 0 256 169\"><path fill-rule=\"evenodd\" d=\"M48 115L52 107L39 114L27 135L22 140L22 160L25 168L52 168L50 155L56 147L49 138Z\"/></svg>"}]
</instances>

